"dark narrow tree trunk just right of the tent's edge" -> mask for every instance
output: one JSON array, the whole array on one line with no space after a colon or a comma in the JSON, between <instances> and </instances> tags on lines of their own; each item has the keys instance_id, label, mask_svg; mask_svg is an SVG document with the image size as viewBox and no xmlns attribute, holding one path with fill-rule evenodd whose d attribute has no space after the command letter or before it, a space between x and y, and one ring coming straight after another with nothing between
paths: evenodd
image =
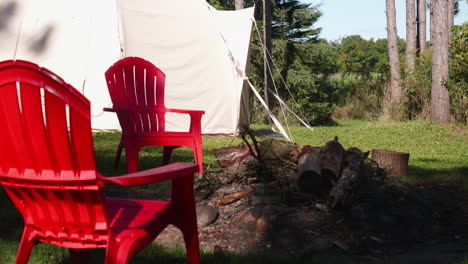
<instances>
[{"instance_id":1,"label":"dark narrow tree trunk just right of the tent's edge","mask_svg":"<svg viewBox=\"0 0 468 264\"><path fill-rule=\"evenodd\" d=\"M272 86L272 76L270 74L272 61L271 61L271 0L263 0L263 43L265 45L263 51L263 89L265 96L265 103L270 107L271 95L268 88ZM268 118L270 120L270 118Z\"/></svg>"}]
</instances>

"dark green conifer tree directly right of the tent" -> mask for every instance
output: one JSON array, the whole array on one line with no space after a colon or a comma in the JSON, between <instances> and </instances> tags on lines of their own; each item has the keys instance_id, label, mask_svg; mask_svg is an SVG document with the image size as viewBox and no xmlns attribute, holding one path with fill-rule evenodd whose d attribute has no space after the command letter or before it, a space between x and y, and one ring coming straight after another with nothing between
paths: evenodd
<instances>
[{"instance_id":1,"label":"dark green conifer tree directly right of the tent","mask_svg":"<svg viewBox=\"0 0 468 264\"><path fill-rule=\"evenodd\" d=\"M327 121L332 113L333 90L324 75L337 71L337 52L335 47L317 40L320 30L313 24L321 12L317 6L294 0L274 1L273 9L272 54L277 68L272 66L275 87L270 89L276 90L296 112L304 112L307 122ZM257 36L254 43L250 77L256 87L263 87L263 51ZM275 109L278 103L270 102L270 107Z\"/></svg>"}]
</instances>

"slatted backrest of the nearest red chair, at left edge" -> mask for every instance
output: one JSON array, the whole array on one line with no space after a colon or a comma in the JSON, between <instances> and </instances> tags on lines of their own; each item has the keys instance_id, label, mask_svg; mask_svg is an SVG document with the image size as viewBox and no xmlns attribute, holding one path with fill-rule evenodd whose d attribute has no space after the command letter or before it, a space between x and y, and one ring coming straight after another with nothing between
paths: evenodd
<instances>
[{"instance_id":1,"label":"slatted backrest of the nearest red chair, at left edge","mask_svg":"<svg viewBox=\"0 0 468 264\"><path fill-rule=\"evenodd\" d=\"M89 101L26 61L0 62L0 182L40 240L107 240Z\"/></svg>"}]
</instances>

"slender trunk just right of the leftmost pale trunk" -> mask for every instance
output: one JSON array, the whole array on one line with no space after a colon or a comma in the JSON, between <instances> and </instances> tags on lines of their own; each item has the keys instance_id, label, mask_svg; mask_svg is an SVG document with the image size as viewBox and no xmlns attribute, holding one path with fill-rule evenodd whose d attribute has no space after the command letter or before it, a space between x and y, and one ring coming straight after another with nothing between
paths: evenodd
<instances>
[{"instance_id":1,"label":"slender trunk just right of the leftmost pale trunk","mask_svg":"<svg viewBox=\"0 0 468 264\"><path fill-rule=\"evenodd\" d=\"M416 2L406 0L406 65L409 72L416 66Z\"/></svg>"}]
</instances>

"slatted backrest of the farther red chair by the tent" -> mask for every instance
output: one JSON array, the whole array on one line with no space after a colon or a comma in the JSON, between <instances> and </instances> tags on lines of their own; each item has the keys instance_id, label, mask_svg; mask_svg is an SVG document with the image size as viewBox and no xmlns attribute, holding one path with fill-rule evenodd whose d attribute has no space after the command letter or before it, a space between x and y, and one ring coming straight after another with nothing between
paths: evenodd
<instances>
[{"instance_id":1,"label":"slatted backrest of the farther red chair by the tent","mask_svg":"<svg viewBox=\"0 0 468 264\"><path fill-rule=\"evenodd\" d=\"M160 69L142 58L127 57L112 65L105 76L124 134L165 131L166 76Z\"/></svg>"}]
</instances>

